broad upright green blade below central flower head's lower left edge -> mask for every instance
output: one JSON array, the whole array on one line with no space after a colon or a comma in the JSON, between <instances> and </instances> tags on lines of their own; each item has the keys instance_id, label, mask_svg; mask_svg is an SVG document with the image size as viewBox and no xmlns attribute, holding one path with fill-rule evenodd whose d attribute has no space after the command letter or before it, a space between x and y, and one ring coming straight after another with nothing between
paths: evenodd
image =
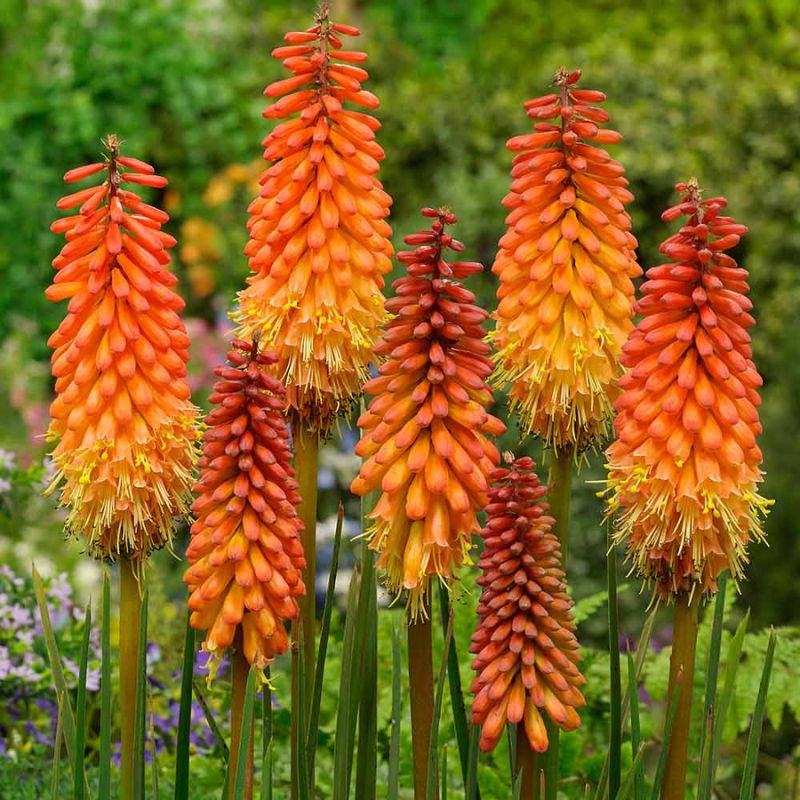
<instances>
[{"instance_id":1,"label":"broad upright green blade below central flower head's lower left edge","mask_svg":"<svg viewBox=\"0 0 800 800\"><path fill-rule=\"evenodd\" d=\"M359 597L359 631L362 653L356 753L356 797L375 800L378 769L378 585L372 551L363 545ZM363 608L362 604L363 603Z\"/></svg>"}]
</instances>

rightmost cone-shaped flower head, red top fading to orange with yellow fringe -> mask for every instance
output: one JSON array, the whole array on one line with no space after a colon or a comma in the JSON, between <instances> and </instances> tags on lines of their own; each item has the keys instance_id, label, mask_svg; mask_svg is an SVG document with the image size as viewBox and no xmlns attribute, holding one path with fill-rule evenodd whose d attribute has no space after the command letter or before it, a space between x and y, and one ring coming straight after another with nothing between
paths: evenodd
<instances>
[{"instance_id":1,"label":"rightmost cone-shaped flower head, red top fading to orange with yellow fringe","mask_svg":"<svg viewBox=\"0 0 800 800\"><path fill-rule=\"evenodd\" d=\"M624 347L617 441L607 451L609 510L637 571L663 595L716 591L742 575L764 535L756 436L761 378L752 361L747 270L724 251L747 229L701 198L694 181L663 218L688 217L662 245Z\"/></svg>"}]
</instances>

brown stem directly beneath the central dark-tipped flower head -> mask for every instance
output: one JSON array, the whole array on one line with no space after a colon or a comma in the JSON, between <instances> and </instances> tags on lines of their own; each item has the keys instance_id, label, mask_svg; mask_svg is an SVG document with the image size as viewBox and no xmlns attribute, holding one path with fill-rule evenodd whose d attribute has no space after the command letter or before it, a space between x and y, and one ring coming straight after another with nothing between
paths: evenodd
<instances>
[{"instance_id":1,"label":"brown stem directly beneath the central dark-tipped flower head","mask_svg":"<svg viewBox=\"0 0 800 800\"><path fill-rule=\"evenodd\" d=\"M411 687L414 800L425 800L433 726L433 640L430 597L427 595L420 616L408 623L408 680Z\"/></svg>"}]
</instances>

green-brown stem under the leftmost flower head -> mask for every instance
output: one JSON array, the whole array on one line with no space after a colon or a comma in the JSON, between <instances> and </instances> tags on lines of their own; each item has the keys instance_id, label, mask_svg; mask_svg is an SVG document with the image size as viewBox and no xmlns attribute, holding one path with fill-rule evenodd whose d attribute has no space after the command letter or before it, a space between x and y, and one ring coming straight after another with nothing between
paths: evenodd
<instances>
[{"instance_id":1,"label":"green-brown stem under the leftmost flower head","mask_svg":"<svg viewBox=\"0 0 800 800\"><path fill-rule=\"evenodd\" d=\"M136 738L136 681L142 597L133 561L119 559L119 685L122 731L120 798L133 800Z\"/></svg>"}]
</instances>

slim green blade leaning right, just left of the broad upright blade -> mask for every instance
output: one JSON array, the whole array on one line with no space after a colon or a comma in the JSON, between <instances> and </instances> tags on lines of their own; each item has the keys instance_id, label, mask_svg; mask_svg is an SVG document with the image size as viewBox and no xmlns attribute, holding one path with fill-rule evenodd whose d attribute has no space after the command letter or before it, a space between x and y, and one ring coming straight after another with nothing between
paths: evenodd
<instances>
[{"instance_id":1,"label":"slim green blade leaning right, just left of the broad upright blade","mask_svg":"<svg viewBox=\"0 0 800 800\"><path fill-rule=\"evenodd\" d=\"M358 698L354 691L354 650L358 595L361 583L357 568L350 577L347 596L347 616L342 642L342 674L339 679L339 706L336 713L336 739L333 745L333 800L348 800L350 770L353 763Z\"/></svg>"}]
</instances>

